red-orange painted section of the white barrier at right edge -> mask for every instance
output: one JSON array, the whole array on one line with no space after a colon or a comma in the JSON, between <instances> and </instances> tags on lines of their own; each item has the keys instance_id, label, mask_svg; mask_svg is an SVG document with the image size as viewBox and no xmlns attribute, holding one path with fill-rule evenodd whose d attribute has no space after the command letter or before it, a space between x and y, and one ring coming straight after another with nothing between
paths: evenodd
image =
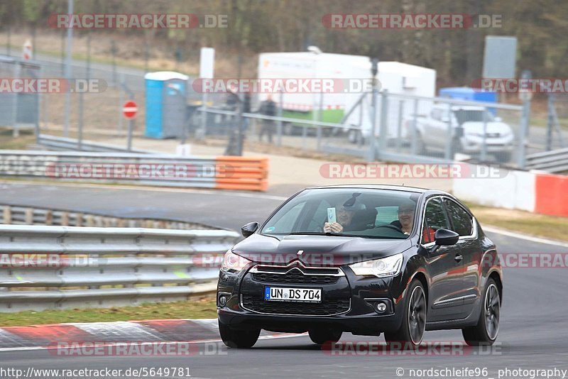
<instances>
[{"instance_id":1,"label":"red-orange painted section of the white barrier at right edge","mask_svg":"<svg viewBox=\"0 0 568 379\"><path fill-rule=\"evenodd\" d=\"M551 216L568 216L568 177L537 174L535 212Z\"/></svg>"}]
</instances>

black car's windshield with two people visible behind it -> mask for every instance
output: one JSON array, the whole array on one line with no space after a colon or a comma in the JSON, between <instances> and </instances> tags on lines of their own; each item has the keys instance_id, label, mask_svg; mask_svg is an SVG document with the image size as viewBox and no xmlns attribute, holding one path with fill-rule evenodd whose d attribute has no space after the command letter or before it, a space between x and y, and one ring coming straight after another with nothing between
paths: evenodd
<instances>
[{"instance_id":1,"label":"black car's windshield with two people visible behind it","mask_svg":"<svg viewBox=\"0 0 568 379\"><path fill-rule=\"evenodd\" d=\"M408 238L420 194L388 189L306 189L283 204L261 234Z\"/></svg>"}]
</instances>

